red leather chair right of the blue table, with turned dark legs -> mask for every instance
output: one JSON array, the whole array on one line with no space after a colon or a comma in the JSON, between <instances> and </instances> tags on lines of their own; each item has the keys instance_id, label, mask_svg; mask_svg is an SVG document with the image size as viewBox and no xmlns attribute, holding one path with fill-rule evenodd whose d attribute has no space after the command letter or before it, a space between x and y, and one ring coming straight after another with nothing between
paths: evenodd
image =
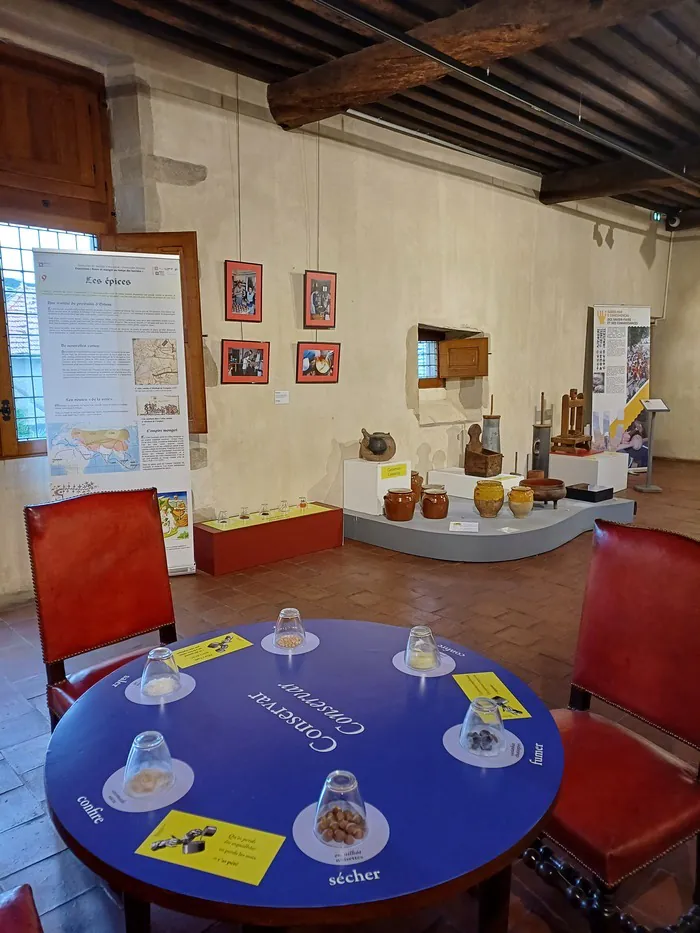
<instances>
[{"instance_id":1,"label":"red leather chair right of the blue table, with turned dark legs","mask_svg":"<svg viewBox=\"0 0 700 933\"><path fill-rule=\"evenodd\" d=\"M566 889L594 930L644 930L614 906L617 886L700 833L698 773L623 726L590 712L591 696L700 749L700 542L596 522L571 698L555 710L564 780L546 835L596 879L542 843L525 861ZM700 845L698 846L700 862ZM700 933L694 906L673 930Z\"/></svg>"}]
</instances>

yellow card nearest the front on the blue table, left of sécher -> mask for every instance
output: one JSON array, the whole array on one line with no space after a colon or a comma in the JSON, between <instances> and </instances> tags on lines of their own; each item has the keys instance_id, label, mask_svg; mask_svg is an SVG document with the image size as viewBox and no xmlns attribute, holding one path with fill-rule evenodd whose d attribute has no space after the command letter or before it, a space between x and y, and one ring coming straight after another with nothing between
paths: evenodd
<instances>
[{"instance_id":1,"label":"yellow card nearest the front on the blue table, left of s\u00e9cher","mask_svg":"<svg viewBox=\"0 0 700 933\"><path fill-rule=\"evenodd\" d=\"M275 833L171 810L136 855L258 885L284 840Z\"/></svg>"}]
</instances>

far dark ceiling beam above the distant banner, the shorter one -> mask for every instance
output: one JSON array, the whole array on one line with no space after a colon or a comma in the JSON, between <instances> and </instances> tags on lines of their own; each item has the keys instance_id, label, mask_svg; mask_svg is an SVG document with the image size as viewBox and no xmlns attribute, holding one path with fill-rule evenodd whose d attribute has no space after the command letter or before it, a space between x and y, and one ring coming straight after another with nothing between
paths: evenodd
<instances>
[{"instance_id":1,"label":"far dark ceiling beam above the distant banner, the shorter one","mask_svg":"<svg viewBox=\"0 0 700 933\"><path fill-rule=\"evenodd\" d=\"M650 156L691 178L700 176L700 146L683 146L671 151L659 150L650 153ZM543 204L561 204L563 201L611 197L638 191L649 185L680 188L682 182L672 176L663 175L657 169L636 159L616 159L614 162L545 175L540 189L540 201ZM687 191L697 198L697 187L689 185Z\"/></svg>"}]
</instances>

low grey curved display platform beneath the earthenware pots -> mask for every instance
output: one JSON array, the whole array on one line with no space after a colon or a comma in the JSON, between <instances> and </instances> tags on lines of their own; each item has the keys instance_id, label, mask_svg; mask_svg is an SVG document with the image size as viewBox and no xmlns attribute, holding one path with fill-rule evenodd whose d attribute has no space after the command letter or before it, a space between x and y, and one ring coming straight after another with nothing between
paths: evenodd
<instances>
[{"instance_id":1,"label":"low grey curved display platform beneath the earthenware pots","mask_svg":"<svg viewBox=\"0 0 700 933\"><path fill-rule=\"evenodd\" d=\"M593 528L597 518L628 524L634 520L631 499L579 502L559 506L537 503L527 518L514 518L505 505L497 518L481 518L471 499L450 499L447 518L425 519L418 510L410 522L389 522L383 515L345 511L346 538L416 557L489 563L520 560L553 551ZM478 522L478 532L450 531L451 521Z\"/></svg>"}]
</instances>

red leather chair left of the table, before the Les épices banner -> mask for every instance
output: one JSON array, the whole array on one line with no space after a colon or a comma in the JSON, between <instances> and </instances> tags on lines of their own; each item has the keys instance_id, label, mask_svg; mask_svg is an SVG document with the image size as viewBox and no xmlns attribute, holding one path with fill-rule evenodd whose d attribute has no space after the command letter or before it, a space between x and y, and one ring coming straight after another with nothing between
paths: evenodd
<instances>
[{"instance_id":1,"label":"red leather chair left of the table, before the Les \u00e9pices banner","mask_svg":"<svg viewBox=\"0 0 700 933\"><path fill-rule=\"evenodd\" d=\"M160 630L177 638L155 489L98 492L24 510L51 728L143 648L66 675L64 661Z\"/></svg>"}]
</instances>

